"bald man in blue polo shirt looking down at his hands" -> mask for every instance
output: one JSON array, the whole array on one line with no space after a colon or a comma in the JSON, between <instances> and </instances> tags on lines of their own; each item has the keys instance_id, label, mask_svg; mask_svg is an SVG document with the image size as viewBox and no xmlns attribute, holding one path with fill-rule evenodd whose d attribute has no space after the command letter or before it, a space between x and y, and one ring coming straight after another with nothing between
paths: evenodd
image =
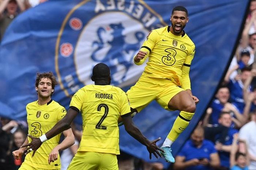
<instances>
[{"instance_id":1,"label":"bald man in blue polo shirt looking down at his hands","mask_svg":"<svg viewBox=\"0 0 256 170\"><path fill-rule=\"evenodd\" d=\"M204 139L204 130L197 127L175 158L175 170L212 170L220 161L214 144Z\"/></svg>"}]
</instances>

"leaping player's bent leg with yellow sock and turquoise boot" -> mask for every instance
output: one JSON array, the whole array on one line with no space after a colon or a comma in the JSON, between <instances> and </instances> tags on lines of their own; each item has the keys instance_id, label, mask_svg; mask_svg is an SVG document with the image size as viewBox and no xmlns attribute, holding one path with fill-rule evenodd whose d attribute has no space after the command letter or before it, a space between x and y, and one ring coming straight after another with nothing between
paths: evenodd
<instances>
[{"instance_id":1,"label":"leaping player's bent leg with yellow sock and turquoise boot","mask_svg":"<svg viewBox=\"0 0 256 170\"><path fill-rule=\"evenodd\" d=\"M171 145L177 139L180 133L187 128L189 121L192 119L195 113L196 104L187 91L181 91L169 101L168 107L171 110L181 111L174 121L172 129L161 147L161 149L165 151L161 152L161 154L165 157L166 162L174 163L175 160L172 155Z\"/></svg>"}]
</instances>

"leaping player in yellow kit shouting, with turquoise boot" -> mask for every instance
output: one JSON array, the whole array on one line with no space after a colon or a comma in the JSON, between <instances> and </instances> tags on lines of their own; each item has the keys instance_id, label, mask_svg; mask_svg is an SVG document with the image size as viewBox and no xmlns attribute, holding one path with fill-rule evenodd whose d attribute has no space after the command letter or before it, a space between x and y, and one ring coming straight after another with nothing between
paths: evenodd
<instances>
[{"instance_id":1,"label":"leaping player in yellow kit shouting, with turquoise boot","mask_svg":"<svg viewBox=\"0 0 256 170\"><path fill-rule=\"evenodd\" d=\"M161 147L165 160L174 163L171 145L188 126L199 99L192 95L189 79L195 44L183 30L188 22L187 9L174 7L170 21L171 26L151 31L134 57L137 65L143 64L146 58L148 62L127 95L132 113L140 112L153 100L164 109L181 111Z\"/></svg>"}]
</instances>

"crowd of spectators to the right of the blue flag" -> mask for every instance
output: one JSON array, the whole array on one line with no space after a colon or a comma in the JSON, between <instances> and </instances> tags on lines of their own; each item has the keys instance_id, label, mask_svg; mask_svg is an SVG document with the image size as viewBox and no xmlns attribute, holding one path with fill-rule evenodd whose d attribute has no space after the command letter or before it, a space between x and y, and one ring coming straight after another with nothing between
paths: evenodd
<instances>
[{"instance_id":1,"label":"crowd of spectators to the right of the blue flag","mask_svg":"<svg viewBox=\"0 0 256 170\"><path fill-rule=\"evenodd\" d=\"M236 54L174 170L256 170L256 0Z\"/></svg>"}]
</instances>

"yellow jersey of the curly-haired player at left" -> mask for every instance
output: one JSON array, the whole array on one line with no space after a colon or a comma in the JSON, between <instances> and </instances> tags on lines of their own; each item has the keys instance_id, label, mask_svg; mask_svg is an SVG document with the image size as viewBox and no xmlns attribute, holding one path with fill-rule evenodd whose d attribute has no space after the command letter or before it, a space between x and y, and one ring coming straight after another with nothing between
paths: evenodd
<instances>
[{"instance_id":1,"label":"yellow jersey of the curly-haired player at left","mask_svg":"<svg viewBox=\"0 0 256 170\"><path fill-rule=\"evenodd\" d=\"M31 102L27 104L26 110L29 135L37 138L52 129L67 113L63 106L53 100L45 105L38 105L38 101ZM25 162L35 168L60 169L60 156L50 165L48 163L48 156L52 149L59 144L59 140L60 134L45 141L35 152L33 158L33 151L26 155ZM31 139L29 138L30 142Z\"/></svg>"}]
</instances>

